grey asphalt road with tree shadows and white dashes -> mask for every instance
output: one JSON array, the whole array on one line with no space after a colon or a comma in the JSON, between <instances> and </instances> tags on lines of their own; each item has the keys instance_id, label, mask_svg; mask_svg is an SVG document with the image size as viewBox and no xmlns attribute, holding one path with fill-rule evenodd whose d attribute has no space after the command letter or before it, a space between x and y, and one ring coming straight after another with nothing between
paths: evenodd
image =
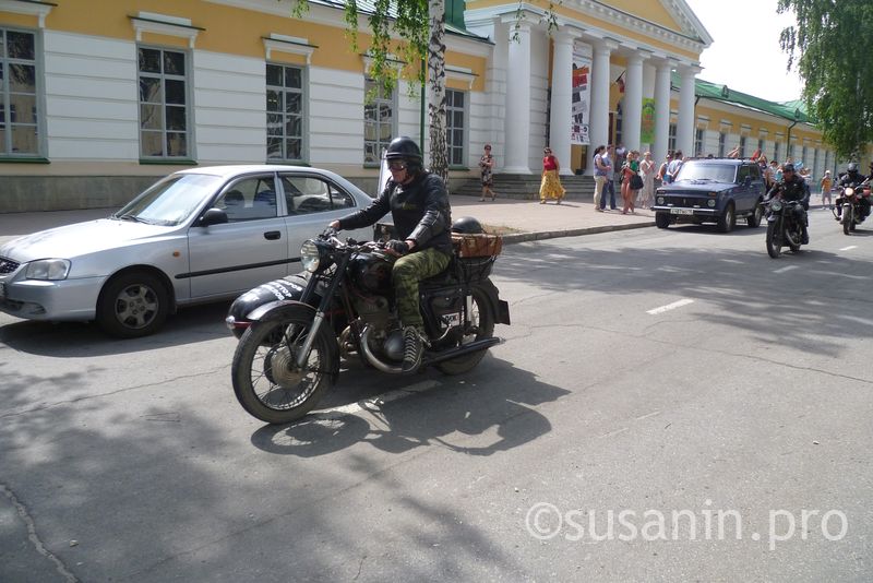
<instances>
[{"instance_id":1,"label":"grey asphalt road with tree shadows and white dashes","mask_svg":"<svg viewBox=\"0 0 873 583\"><path fill-rule=\"evenodd\" d=\"M226 306L0 317L0 581L870 581L873 230L811 234L509 246L473 373L356 366L292 427L237 405Z\"/></svg>"}]
</instances>

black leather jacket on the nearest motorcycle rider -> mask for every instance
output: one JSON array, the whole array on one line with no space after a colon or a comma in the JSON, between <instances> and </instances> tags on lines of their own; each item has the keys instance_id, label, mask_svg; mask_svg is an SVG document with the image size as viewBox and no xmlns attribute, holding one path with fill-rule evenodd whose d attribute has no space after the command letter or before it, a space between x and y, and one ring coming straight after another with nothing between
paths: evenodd
<instances>
[{"instance_id":1,"label":"black leather jacket on the nearest motorcycle rider","mask_svg":"<svg viewBox=\"0 0 873 583\"><path fill-rule=\"evenodd\" d=\"M374 224L391 211L397 238L416 241L415 251L435 248L452 252L452 210L442 179L420 172L408 185L388 180L385 190L367 209L339 219L339 228L356 229Z\"/></svg>"}]
</instances>

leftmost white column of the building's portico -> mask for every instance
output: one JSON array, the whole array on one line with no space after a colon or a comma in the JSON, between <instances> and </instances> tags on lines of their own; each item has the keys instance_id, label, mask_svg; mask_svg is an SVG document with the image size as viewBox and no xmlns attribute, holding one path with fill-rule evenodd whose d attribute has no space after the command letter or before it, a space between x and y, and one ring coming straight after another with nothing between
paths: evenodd
<instances>
[{"instance_id":1,"label":"leftmost white column of the building's portico","mask_svg":"<svg viewBox=\"0 0 873 583\"><path fill-rule=\"evenodd\" d=\"M530 150L530 24L518 22L517 40L510 40L506 71L506 166L507 174L531 174Z\"/></svg>"}]
</instances>

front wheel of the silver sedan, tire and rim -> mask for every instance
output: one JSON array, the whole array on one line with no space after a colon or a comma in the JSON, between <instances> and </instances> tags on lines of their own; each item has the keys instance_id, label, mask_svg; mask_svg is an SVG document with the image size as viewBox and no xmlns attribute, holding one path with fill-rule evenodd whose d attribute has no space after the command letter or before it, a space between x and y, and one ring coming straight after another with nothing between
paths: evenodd
<instances>
[{"instance_id":1,"label":"front wheel of the silver sedan, tire and rim","mask_svg":"<svg viewBox=\"0 0 873 583\"><path fill-rule=\"evenodd\" d=\"M119 338L154 334L169 313L164 283L145 271L122 273L109 279L97 300L97 324Z\"/></svg>"}]
</instances>

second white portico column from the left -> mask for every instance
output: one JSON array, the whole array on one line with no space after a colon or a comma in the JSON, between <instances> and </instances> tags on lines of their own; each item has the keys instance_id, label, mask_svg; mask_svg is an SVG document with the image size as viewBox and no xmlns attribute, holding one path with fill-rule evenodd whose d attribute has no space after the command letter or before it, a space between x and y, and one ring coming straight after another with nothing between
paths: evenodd
<instances>
[{"instance_id":1,"label":"second white portico column from the left","mask_svg":"<svg viewBox=\"0 0 873 583\"><path fill-rule=\"evenodd\" d=\"M573 34L554 36L552 57L552 102L549 117L549 146L561 163L561 174L572 175L570 167L570 124L573 116Z\"/></svg>"}]
</instances>

